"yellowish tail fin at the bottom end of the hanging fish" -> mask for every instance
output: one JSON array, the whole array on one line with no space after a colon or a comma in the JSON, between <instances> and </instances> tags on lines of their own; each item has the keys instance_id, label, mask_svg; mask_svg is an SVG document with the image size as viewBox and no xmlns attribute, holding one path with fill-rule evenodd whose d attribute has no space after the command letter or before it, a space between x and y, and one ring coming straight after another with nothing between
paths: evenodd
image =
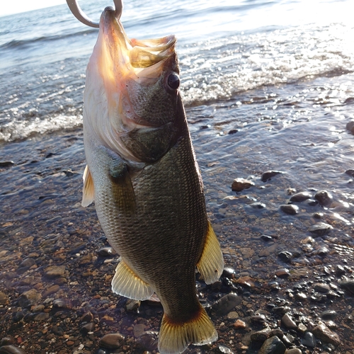
<instances>
[{"instance_id":1,"label":"yellowish tail fin at the bottom end of the hanging fish","mask_svg":"<svg viewBox=\"0 0 354 354\"><path fill-rule=\"evenodd\" d=\"M202 346L216 340L217 331L203 307L200 306L197 316L182 324L173 323L164 314L159 335L159 353L178 354L182 353L190 343Z\"/></svg>"}]
</instances>

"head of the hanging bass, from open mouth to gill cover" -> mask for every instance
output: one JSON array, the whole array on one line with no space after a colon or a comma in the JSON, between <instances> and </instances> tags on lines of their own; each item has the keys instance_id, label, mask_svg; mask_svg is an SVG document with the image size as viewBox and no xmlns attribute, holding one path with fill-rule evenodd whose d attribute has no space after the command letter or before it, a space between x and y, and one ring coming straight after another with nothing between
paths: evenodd
<instances>
[{"instance_id":1,"label":"head of the hanging bass, from open mouth to gill cover","mask_svg":"<svg viewBox=\"0 0 354 354\"><path fill-rule=\"evenodd\" d=\"M113 8L105 8L86 70L84 130L126 159L163 156L185 119L175 47L173 35L128 38Z\"/></svg>"}]
</instances>

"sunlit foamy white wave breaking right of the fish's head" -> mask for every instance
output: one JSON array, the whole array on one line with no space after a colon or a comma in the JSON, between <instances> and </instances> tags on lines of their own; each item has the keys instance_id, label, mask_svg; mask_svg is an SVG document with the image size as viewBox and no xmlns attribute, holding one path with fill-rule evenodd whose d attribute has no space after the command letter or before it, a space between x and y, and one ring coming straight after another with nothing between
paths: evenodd
<instances>
[{"instance_id":1,"label":"sunlit foamy white wave breaking right of the fish's head","mask_svg":"<svg viewBox=\"0 0 354 354\"><path fill-rule=\"evenodd\" d=\"M352 30L353 32L353 30ZM182 93L192 106L262 86L354 72L343 26L262 31L198 43L181 57Z\"/></svg>"}]
</instances>

